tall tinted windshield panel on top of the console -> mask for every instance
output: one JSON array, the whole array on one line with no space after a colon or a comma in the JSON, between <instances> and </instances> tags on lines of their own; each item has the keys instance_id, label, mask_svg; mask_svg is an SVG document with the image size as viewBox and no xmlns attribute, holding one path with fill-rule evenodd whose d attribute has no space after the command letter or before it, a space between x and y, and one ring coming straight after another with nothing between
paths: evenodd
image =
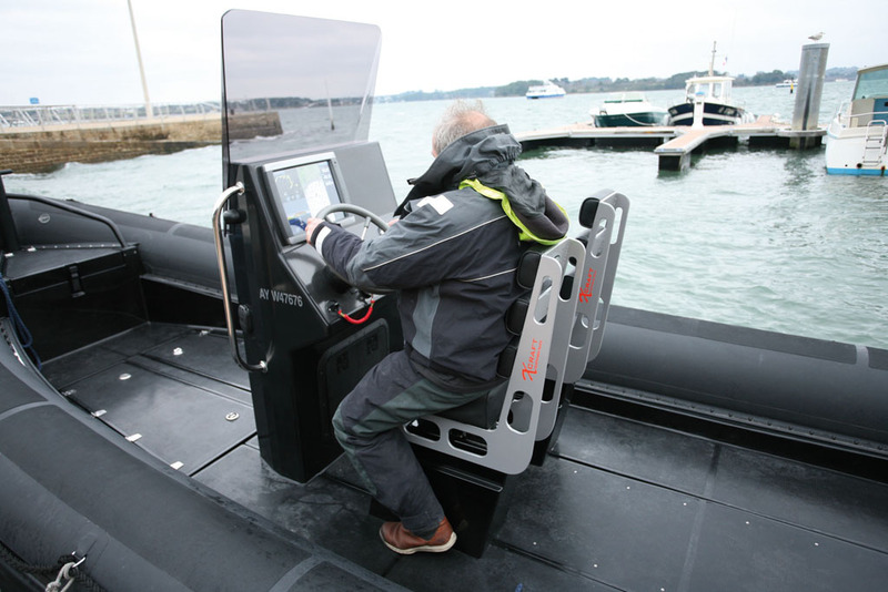
<instances>
[{"instance_id":1,"label":"tall tinted windshield panel on top of the console","mask_svg":"<svg viewBox=\"0 0 888 592\"><path fill-rule=\"evenodd\" d=\"M225 186L230 163L366 141L375 25L232 10L222 17Z\"/></svg>"}]
</instances>

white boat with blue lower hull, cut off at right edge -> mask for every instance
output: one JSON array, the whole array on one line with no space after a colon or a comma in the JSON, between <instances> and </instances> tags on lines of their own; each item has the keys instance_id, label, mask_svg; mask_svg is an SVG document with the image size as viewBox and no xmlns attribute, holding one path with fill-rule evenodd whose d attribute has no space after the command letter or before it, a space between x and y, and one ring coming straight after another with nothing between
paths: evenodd
<instances>
[{"instance_id":1,"label":"white boat with blue lower hull, cut off at right edge","mask_svg":"<svg viewBox=\"0 0 888 592\"><path fill-rule=\"evenodd\" d=\"M827 129L826 172L881 175L888 166L888 63L864 68Z\"/></svg>"}]
</instances>

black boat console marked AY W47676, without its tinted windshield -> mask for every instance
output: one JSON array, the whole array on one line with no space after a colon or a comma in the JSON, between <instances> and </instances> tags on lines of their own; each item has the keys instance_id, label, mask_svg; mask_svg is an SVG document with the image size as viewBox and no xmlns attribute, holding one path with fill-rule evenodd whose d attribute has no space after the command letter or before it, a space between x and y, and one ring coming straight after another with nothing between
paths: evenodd
<instances>
[{"instance_id":1,"label":"black boat console marked AY W47676, without its tinted windshield","mask_svg":"<svg viewBox=\"0 0 888 592\"><path fill-rule=\"evenodd\" d=\"M281 474L307 481L340 453L330 425L339 401L401 335L393 298L333 276L305 242L304 222L342 204L391 212L394 197L372 143L234 166L239 191L222 200L224 213L216 216L228 234L220 239L231 243L238 294L235 308L225 289L232 351L253 371L263 458ZM329 220L361 227L353 213ZM228 279L224 256L220 262Z\"/></svg>"}]
</instances>

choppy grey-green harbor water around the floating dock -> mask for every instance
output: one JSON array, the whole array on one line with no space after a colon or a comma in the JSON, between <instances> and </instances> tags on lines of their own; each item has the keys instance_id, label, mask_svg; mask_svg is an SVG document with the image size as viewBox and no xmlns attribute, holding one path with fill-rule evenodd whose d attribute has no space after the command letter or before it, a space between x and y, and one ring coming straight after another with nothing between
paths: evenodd
<instances>
[{"instance_id":1,"label":"choppy grey-green harbor water around the floating dock","mask_svg":"<svg viewBox=\"0 0 888 592\"><path fill-rule=\"evenodd\" d=\"M852 82L826 83L825 125ZM737 88L755 114L790 121L788 89ZM668 106L682 91L646 93ZM589 121L604 94L527 101L490 99L513 132ZM401 198L406 180L432 162L431 130L446 101L373 106L380 142ZM0 163L2 164L2 163ZM545 149L521 165L576 220L602 188L632 200L614 304L779 333L888 348L888 180L830 176L823 149L736 149L695 156L684 172L659 172L650 147ZM8 175L11 193L72 198L210 225L222 191L221 149Z\"/></svg>"}]
</instances>

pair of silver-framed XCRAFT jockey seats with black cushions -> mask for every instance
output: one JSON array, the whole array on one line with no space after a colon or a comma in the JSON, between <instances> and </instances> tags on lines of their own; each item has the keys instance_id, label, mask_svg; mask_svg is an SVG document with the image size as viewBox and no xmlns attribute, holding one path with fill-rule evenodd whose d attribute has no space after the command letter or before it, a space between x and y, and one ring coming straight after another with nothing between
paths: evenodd
<instances>
[{"instance_id":1,"label":"pair of silver-framed XCRAFT jockey seats with black cushions","mask_svg":"<svg viewBox=\"0 0 888 592\"><path fill-rule=\"evenodd\" d=\"M529 292L507 315L516 336L500 360L506 380L404 426L411 442L506 474L527 468L537 441L554 445L562 394L601 348L628 207L625 195L601 191L581 207L581 236L525 254L517 280Z\"/></svg>"}]
</instances>

